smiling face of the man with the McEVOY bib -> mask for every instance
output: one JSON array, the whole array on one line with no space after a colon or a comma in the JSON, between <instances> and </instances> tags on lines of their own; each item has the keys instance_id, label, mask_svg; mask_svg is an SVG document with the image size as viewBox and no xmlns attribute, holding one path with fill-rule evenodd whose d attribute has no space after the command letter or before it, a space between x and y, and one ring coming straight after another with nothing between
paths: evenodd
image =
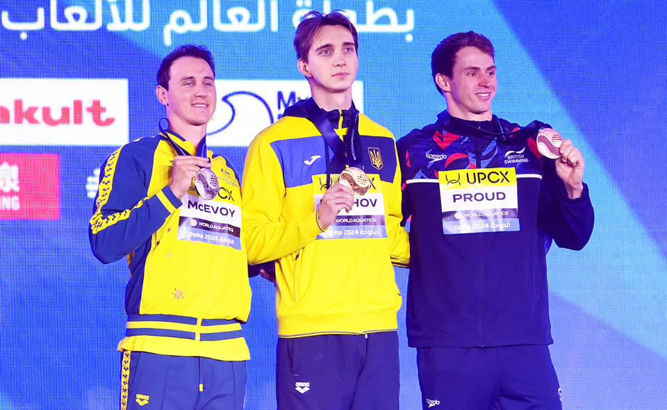
<instances>
[{"instance_id":1,"label":"smiling face of the man with the McEVOY bib","mask_svg":"<svg viewBox=\"0 0 667 410\"><path fill-rule=\"evenodd\" d=\"M201 58L181 57L172 63L169 76L169 90L158 85L157 94L167 107L172 127L201 126L211 120L217 95L208 63Z\"/></svg>"}]
</instances>

